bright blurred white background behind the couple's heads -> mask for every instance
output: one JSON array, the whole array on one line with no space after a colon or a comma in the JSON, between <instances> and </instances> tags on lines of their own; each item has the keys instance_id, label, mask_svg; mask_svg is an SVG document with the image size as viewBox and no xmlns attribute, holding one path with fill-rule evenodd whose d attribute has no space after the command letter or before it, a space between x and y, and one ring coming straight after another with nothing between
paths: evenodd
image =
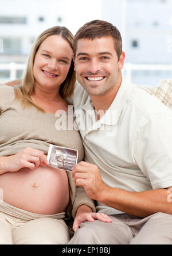
<instances>
[{"instance_id":1,"label":"bright blurred white background behind the couple's heads","mask_svg":"<svg viewBox=\"0 0 172 256\"><path fill-rule=\"evenodd\" d=\"M95 19L120 30L126 79L153 87L172 79L172 0L0 0L0 81L21 78L45 29L67 26L75 35Z\"/></svg>"}]
</instances>

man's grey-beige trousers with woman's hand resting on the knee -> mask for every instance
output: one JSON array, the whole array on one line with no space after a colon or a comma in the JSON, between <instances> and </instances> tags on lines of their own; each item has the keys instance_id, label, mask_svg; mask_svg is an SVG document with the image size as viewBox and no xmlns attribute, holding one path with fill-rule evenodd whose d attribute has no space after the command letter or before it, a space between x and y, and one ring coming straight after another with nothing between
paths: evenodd
<instances>
[{"instance_id":1,"label":"man's grey-beige trousers with woman's hand resting on the knee","mask_svg":"<svg viewBox=\"0 0 172 256\"><path fill-rule=\"evenodd\" d=\"M172 244L172 215L158 212L145 218L110 215L112 223L85 221L68 244Z\"/></svg>"}]
</instances>

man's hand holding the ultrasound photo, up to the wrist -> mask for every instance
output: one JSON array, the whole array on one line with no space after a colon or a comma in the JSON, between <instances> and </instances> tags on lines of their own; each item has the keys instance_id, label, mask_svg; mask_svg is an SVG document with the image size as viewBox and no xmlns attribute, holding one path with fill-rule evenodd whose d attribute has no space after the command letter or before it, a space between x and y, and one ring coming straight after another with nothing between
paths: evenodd
<instances>
[{"instance_id":1,"label":"man's hand holding the ultrasound photo, up to the wrist","mask_svg":"<svg viewBox=\"0 0 172 256\"><path fill-rule=\"evenodd\" d=\"M90 198L100 201L101 192L105 191L107 185L102 181L96 165L82 161L73 167L72 177L76 186L83 186Z\"/></svg>"}]
</instances>

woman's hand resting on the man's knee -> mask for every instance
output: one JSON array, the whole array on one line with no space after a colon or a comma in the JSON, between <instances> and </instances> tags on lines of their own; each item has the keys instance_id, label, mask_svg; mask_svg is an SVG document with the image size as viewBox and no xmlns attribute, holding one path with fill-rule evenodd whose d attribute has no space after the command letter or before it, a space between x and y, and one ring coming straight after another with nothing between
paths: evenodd
<instances>
[{"instance_id":1,"label":"woman's hand resting on the man's knee","mask_svg":"<svg viewBox=\"0 0 172 256\"><path fill-rule=\"evenodd\" d=\"M73 222L73 231L77 231L79 228L80 224L83 223L84 221L95 221L95 220L100 220L104 221L107 223L112 222L111 218L104 214L104 213L99 213L99 212L92 212L91 208L87 207L87 205L81 205L77 209L76 217Z\"/></svg>"}]
</instances>

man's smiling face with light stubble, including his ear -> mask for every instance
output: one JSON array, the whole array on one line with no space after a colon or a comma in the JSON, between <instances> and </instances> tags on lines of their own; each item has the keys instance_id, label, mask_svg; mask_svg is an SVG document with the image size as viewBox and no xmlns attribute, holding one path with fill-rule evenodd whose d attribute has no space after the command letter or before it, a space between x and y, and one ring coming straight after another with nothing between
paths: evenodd
<instances>
[{"instance_id":1,"label":"man's smiling face with light stubble, including his ear","mask_svg":"<svg viewBox=\"0 0 172 256\"><path fill-rule=\"evenodd\" d=\"M118 60L111 36L80 39L75 57L76 79L89 95L111 92L120 83L124 52Z\"/></svg>"}]
</instances>

